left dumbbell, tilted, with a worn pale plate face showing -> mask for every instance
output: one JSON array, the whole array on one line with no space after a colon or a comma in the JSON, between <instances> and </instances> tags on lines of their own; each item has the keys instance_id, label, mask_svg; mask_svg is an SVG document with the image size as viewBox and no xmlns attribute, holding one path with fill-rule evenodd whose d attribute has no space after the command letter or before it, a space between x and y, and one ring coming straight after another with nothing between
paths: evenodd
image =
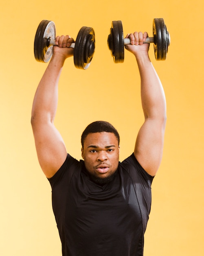
<instances>
[{"instance_id":1,"label":"left dumbbell, tilted, with a worn pale plate face showing","mask_svg":"<svg viewBox=\"0 0 204 256\"><path fill-rule=\"evenodd\" d=\"M55 46L55 23L42 20L37 27L34 40L34 55L36 61L48 62L53 55ZM74 49L74 64L79 69L86 70L95 51L95 34L91 27L82 27L79 30L75 43L70 45Z\"/></svg>"}]
</instances>

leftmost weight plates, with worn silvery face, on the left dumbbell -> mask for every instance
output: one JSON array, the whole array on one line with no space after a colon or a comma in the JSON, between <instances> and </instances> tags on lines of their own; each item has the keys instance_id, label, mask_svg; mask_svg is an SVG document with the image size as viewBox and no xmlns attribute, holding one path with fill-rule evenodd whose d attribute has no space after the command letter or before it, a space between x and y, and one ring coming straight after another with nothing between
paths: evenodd
<instances>
[{"instance_id":1,"label":"leftmost weight plates, with worn silvery face, on the left dumbbell","mask_svg":"<svg viewBox=\"0 0 204 256\"><path fill-rule=\"evenodd\" d=\"M48 45L48 38L55 39L55 23L42 20L39 23L34 40L34 55L36 61L48 62L53 55L53 46Z\"/></svg>"}]
</instances>

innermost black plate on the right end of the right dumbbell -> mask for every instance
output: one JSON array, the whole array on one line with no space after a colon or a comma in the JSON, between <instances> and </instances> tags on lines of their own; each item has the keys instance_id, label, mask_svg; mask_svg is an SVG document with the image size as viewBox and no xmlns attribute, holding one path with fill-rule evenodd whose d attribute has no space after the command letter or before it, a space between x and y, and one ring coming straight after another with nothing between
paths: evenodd
<instances>
[{"instance_id":1,"label":"innermost black plate on the right end of the right dumbbell","mask_svg":"<svg viewBox=\"0 0 204 256\"><path fill-rule=\"evenodd\" d=\"M159 19L153 20L154 55L157 61L162 59L162 35Z\"/></svg>"}]
</instances>

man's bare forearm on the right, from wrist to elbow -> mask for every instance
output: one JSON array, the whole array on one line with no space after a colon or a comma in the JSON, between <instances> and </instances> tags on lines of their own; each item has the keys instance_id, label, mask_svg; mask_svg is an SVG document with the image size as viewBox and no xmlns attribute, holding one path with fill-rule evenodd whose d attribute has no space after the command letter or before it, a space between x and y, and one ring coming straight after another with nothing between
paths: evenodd
<instances>
[{"instance_id":1,"label":"man's bare forearm on the right, from wrist to elbow","mask_svg":"<svg viewBox=\"0 0 204 256\"><path fill-rule=\"evenodd\" d=\"M141 100L145 118L166 119L165 93L148 54L136 56L141 78Z\"/></svg>"}]
</instances>

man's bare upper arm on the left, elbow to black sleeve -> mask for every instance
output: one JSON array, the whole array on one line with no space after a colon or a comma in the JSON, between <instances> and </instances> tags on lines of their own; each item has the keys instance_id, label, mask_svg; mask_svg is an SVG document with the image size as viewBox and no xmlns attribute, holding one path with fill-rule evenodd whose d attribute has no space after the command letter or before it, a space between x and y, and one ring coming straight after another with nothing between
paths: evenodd
<instances>
[{"instance_id":1,"label":"man's bare upper arm on the left, elbow to black sleeve","mask_svg":"<svg viewBox=\"0 0 204 256\"><path fill-rule=\"evenodd\" d=\"M64 141L52 123L33 126L37 157L46 177L52 177L64 163L67 152Z\"/></svg>"}]
</instances>

